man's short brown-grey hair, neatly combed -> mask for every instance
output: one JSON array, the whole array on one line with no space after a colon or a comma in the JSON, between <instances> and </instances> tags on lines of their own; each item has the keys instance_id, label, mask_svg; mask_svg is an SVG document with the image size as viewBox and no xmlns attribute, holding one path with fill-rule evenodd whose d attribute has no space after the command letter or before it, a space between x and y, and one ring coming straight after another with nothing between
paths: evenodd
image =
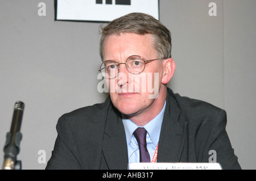
<instances>
[{"instance_id":1,"label":"man's short brown-grey hair, neatly combed","mask_svg":"<svg viewBox=\"0 0 256 181\"><path fill-rule=\"evenodd\" d=\"M151 15L134 12L114 19L107 26L101 27L100 56L104 60L104 41L108 35L120 33L150 34L154 37L154 47L160 58L171 58L171 32Z\"/></svg>"}]
</instances>

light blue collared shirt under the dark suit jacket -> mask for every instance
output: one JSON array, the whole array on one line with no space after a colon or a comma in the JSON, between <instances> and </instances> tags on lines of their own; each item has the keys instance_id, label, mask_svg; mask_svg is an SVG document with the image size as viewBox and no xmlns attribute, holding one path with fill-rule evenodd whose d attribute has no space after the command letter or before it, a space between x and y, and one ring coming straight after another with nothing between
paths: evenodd
<instances>
[{"instance_id":1,"label":"light blue collared shirt under the dark suit jacket","mask_svg":"<svg viewBox=\"0 0 256 181\"><path fill-rule=\"evenodd\" d=\"M166 102L164 103L162 111L143 127L147 131L146 141L150 160L152 160L156 146L158 145L165 109ZM125 127L129 163L139 162L139 146L135 136L133 135L133 132L138 128L138 125L133 123L130 119L127 119L125 115L123 115L122 121Z\"/></svg>"}]
</instances>

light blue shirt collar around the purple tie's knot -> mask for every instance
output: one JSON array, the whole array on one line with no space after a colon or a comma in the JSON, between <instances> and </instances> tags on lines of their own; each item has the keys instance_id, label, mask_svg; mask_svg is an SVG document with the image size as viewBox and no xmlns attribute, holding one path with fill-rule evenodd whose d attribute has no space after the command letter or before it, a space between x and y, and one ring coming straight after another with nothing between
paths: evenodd
<instances>
[{"instance_id":1,"label":"light blue shirt collar around the purple tie's knot","mask_svg":"<svg viewBox=\"0 0 256 181\"><path fill-rule=\"evenodd\" d=\"M158 141L159 141L165 109L166 109L166 102L164 103L162 111L154 119L152 119L150 122L148 122L143 127L147 130L147 132L155 146L158 144ZM123 121L123 125L125 127L127 146L129 146L130 142L131 142L131 137L133 136L133 132L139 126L137 124L133 123L133 121L131 121L130 119L127 119L127 117L125 115L122 115L122 121Z\"/></svg>"}]
</instances>

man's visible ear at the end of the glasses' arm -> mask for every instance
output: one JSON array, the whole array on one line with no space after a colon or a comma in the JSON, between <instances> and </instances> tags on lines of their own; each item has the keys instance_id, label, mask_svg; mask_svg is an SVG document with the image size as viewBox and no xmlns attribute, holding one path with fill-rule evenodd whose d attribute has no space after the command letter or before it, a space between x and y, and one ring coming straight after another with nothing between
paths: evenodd
<instances>
[{"instance_id":1,"label":"man's visible ear at the end of the glasses' arm","mask_svg":"<svg viewBox=\"0 0 256 181\"><path fill-rule=\"evenodd\" d=\"M176 64L172 58L168 58L163 61L164 73L162 77L162 83L167 84L171 78L174 76L174 71L176 68Z\"/></svg>"}]
</instances>

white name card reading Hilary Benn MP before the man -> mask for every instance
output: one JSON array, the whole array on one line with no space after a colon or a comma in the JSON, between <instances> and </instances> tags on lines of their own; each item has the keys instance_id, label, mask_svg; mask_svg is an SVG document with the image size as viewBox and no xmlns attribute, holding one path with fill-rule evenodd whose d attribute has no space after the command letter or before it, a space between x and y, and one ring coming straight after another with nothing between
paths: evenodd
<instances>
[{"instance_id":1,"label":"white name card reading Hilary Benn MP before the man","mask_svg":"<svg viewBox=\"0 0 256 181\"><path fill-rule=\"evenodd\" d=\"M129 163L130 170L222 170L220 163Z\"/></svg>"}]
</instances>

